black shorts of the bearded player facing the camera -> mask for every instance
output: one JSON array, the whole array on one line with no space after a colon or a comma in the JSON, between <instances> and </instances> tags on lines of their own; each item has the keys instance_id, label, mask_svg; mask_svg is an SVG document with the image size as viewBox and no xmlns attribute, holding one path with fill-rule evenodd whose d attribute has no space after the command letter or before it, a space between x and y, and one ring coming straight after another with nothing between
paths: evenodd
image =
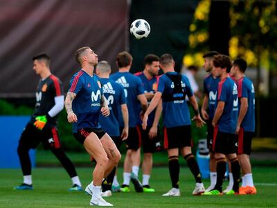
<instances>
[{"instance_id":1,"label":"black shorts of the bearded player facing the camera","mask_svg":"<svg viewBox=\"0 0 277 208\"><path fill-rule=\"evenodd\" d=\"M140 125L143 153L154 153L156 151L156 143L160 141L159 127L157 137L154 137L152 139L150 139L149 137L150 128L151 127L147 127L146 130L143 130L142 126Z\"/></svg>"}]
</instances>

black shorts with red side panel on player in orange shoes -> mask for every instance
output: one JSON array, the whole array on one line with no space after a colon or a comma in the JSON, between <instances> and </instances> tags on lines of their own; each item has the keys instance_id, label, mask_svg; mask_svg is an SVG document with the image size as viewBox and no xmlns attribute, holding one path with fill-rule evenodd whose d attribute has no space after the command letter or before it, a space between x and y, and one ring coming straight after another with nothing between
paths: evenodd
<instances>
[{"instance_id":1,"label":"black shorts with red side panel on player in orange shoes","mask_svg":"<svg viewBox=\"0 0 277 208\"><path fill-rule=\"evenodd\" d=\"M254 132L244 132L244 129L240 128L238 132L238 155L250 155L253 135Z\"/></svg>"}]
</instances>

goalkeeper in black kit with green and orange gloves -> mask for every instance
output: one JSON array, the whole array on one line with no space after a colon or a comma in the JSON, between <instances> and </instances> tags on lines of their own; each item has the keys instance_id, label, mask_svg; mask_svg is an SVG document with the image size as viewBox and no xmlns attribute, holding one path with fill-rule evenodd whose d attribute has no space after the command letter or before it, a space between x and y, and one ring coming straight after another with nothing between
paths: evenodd
<instances>
[{"instance_id":1,"label":"goalkeeper in black kit with green and orange gloves","mask_svg":"<svg viewBox=\"0 0 277 208\"><path fill-rule=\"evenodd\" d=\"M82 185L75 167L62 150L57 134L57 114L64 108L64 95L60 79L54 76L49 69L50 62L51 60L46 54L40 54L33 58L33 69L41 79L37 86L37 103L33 116L19 139L17 153L24 175L24 182L15 189L33 190L28 151L37 148L42 141L44 147L51 150L71 177L73 187L69 191L82 191Z\"/></svg>"}]
</instances>

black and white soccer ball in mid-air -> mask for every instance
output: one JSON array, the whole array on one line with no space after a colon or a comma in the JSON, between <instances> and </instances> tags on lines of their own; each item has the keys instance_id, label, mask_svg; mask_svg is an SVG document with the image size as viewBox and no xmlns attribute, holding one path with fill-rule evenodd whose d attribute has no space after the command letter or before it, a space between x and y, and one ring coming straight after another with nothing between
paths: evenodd
<instances>
[{"instance_id":1,"label":"black and white soccer ball in mid-air","mask_svg":"<svg viewBox=\"0 0 277 208\"><path fill-rule=\"evenodd\" d=\"M150 25L145 19L136 19L130 26L130 33L134 35L136 39L148 37L150 33Z\"/></svg>"}]
</instances>

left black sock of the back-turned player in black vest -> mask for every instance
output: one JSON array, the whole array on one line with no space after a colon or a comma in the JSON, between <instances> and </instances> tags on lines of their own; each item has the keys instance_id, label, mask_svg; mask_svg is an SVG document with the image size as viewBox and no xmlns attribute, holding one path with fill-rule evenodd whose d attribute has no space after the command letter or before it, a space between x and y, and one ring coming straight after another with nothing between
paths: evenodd
<instances>
[{"instance_id":1,"label":"left black sock of the back-turned player in black vest","mask_svg":"<svg viewBox=\"0 0 277 208\"><path fill-rule=\"evenodd\" d=\"M169 168L172 188L179 189L180 166L179 166L178 156L168 157L168 168Z\"/></svg>"}]
</instances>

